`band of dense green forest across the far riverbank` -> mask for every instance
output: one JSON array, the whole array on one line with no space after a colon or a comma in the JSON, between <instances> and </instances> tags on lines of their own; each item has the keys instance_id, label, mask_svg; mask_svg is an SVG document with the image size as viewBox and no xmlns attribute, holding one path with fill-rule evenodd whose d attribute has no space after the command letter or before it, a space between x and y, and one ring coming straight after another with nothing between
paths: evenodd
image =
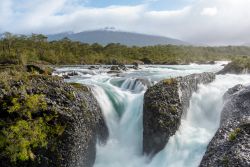
<instances>
[{"instance_id":1,"label":"band of dense green forest across the far riverbank","mask_svg":"<svg viewBox=\"0 0 250 167\"><path fill-rule=\"evenodd\" d=\"M67 38L48 41L42 34L17 36L11 33L5 33L0 39L0 64L131 64L138 60L148 64L187 64L230 60L235 56L250 56L250 47L127 47L114 43L102 46Z\"/></svg>"}]
</instances>

